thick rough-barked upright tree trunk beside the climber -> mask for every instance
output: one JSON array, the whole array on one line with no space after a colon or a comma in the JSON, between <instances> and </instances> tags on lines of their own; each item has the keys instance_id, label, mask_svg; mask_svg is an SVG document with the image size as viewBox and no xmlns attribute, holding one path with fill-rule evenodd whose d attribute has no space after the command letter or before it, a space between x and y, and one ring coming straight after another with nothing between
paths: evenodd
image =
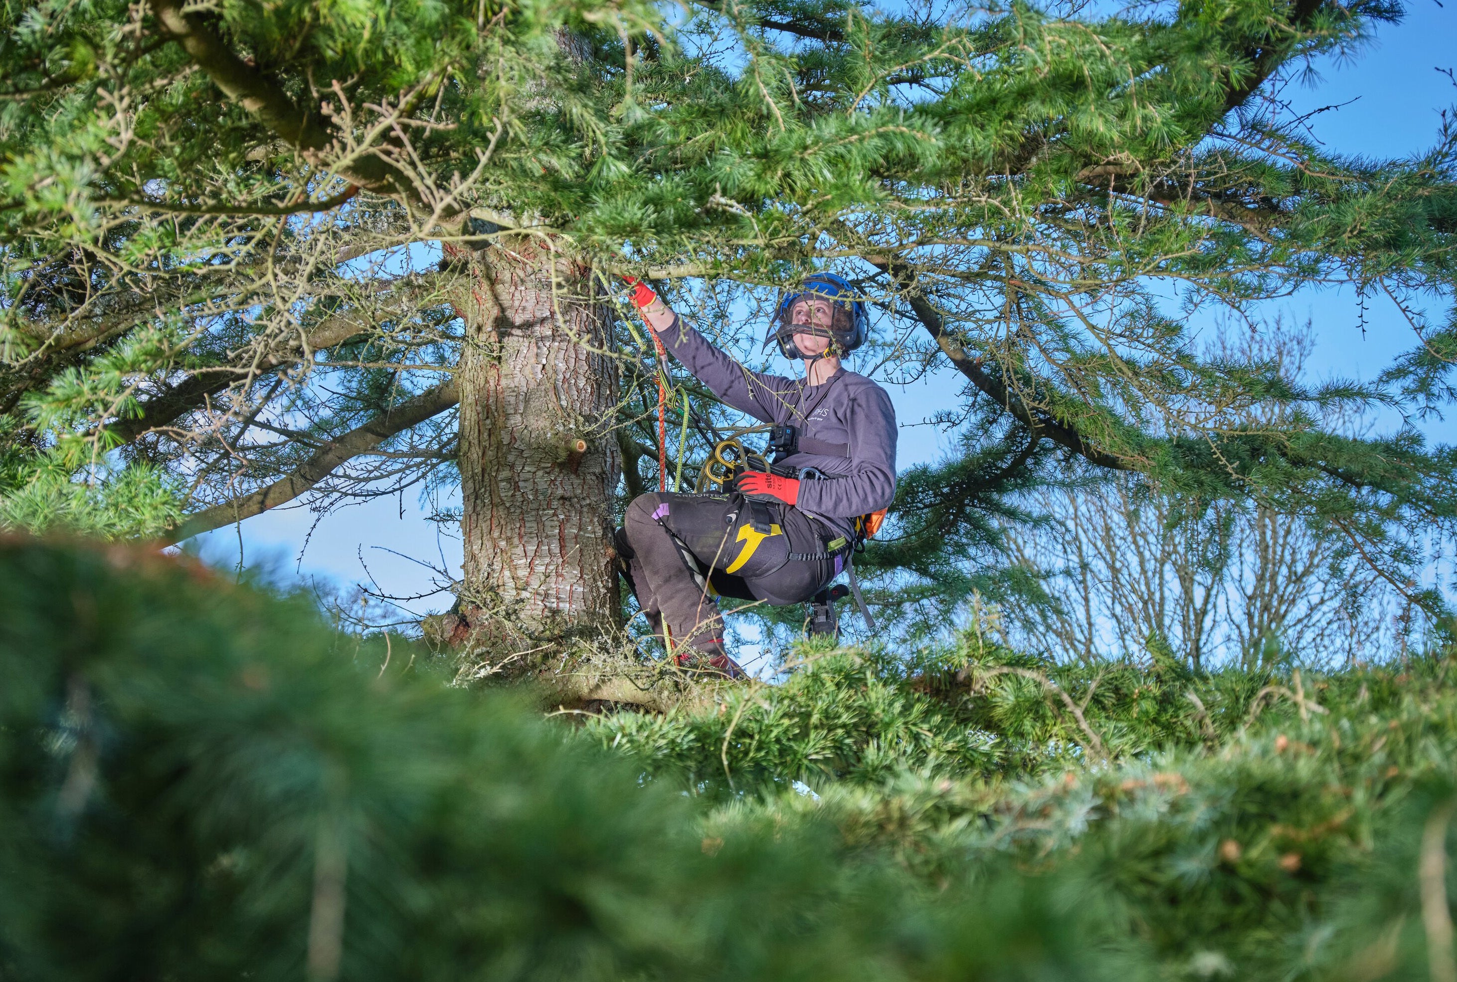
<instances>
[{"instance_id":1,"label":"thick rough-barked upright tree trunk beside the climber","mask_svg":"<svg viewBox=\"0 0 1457 982\"><path fill-rule=\"evenodd\" d=\"M460 609L472 647L495 661L616 618L616 370L587 271L538 243L469 256L456 310Z\"/></svg>"}]
</instances>

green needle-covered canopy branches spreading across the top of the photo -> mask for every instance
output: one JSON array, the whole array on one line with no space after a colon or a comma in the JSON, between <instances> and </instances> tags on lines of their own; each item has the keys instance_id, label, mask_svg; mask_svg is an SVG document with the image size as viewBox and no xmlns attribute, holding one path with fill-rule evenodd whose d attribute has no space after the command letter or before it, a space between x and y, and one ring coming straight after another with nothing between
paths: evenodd
<instances>
[{"instance_id":1,"label":"green needle-covered canopy branches spreading across the top of the photo","mask_svg":"<svg viewBox=\"0 0 1457 982\"><path fill-rule=\"evenodd\" d=\"M970 462L906 482L918 508L883 565L943 589L983 541L967 501L1081 460L1195 507L1234 495L1339 527L1405 584L1393 529L1450 530L1451 453L1340 420L1451 396L1457 135L1348 157L1271 96L1400 15L6 3L0 481L105 498L143 468L156 494L134 475L125 497L149 504L93 525L173 536L452 481L479 443L453 415L481 347L468 307L501 293L481 264L533 265L568 332L561 310L600 309L616 274L667 281L710 323L828 265L879 305L883 370L953 366L949 418L988 427ZM1413 319L1377 383L1313 388L1198 347L1196 310L1257 316L1330 283ZM1432 303L1448 312L1428 321ZM651 351L627 323L573 337L615 360L603 392L622 388L549 441L581 437L640 488ZM702 402L672 396L675 414ZM485 412L466 401L460 420ZM702 427L679 423L692 475Z\"/></svg>"}]
</instances>

